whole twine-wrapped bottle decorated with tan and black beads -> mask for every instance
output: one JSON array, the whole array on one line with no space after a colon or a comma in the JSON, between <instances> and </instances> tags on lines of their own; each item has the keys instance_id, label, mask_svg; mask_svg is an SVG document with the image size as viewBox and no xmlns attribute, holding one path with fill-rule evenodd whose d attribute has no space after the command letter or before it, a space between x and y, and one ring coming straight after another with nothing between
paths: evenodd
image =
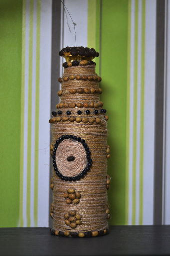
<instances>
[{"instance_id":1,"label":"whole twine-wrapped bottle decorated with tan and black beads","mask_svg":"<svg viewBox=\"0 0 170 256\"><path fill-rule=\"evenodd\" d=\"M107 190L106 110L100 101L101 77L95 72L94 57L88 47L66 47L60 103L49 120L53 141L51 189L53 218L51 233L59 236L90 237L104 235L110 218Z\"/></svg>"}]
</instances>

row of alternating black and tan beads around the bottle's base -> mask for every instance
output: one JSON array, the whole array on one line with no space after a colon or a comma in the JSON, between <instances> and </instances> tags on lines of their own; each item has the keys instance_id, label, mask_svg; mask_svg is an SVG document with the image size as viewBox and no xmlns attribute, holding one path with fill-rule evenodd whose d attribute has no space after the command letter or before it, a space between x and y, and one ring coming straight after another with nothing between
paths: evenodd
<instances>
[{"instance_id":1,"label":"row of alternating black and tan beads around the bottle's base","mask_svg":"<svg viewBox=\"0 0 170 256\"><path fill-rule=\"evenodd\" d=\"M99 231L86 231L86 232L69 232L67 231L58 231L54 228L50 229L50 232L52 235L58 235L58 236L72 236L72 237L95 237L95 236L102 236L106 235L108 233L109 229L102 229Z\"/></svg>"}]
</instances>

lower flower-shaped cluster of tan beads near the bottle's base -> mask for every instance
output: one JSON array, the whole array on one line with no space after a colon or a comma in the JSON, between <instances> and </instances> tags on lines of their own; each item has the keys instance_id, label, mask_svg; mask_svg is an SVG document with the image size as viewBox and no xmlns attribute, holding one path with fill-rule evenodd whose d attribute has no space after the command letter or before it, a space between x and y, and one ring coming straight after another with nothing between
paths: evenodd
<instances>
[{"instance_id":1,"label":"lower flower-shaped cluster of tan beads near the bottle's base","mask_svg":"<svg viewBox=\"0 0 170 256\"><path fill-rule=\"evenodd\" d=\"M76 228L77 225L81 225L81 215L76 213L75 210L70 210L64 215L65 224L71 228Z\"/></svg>"}]
</instances>

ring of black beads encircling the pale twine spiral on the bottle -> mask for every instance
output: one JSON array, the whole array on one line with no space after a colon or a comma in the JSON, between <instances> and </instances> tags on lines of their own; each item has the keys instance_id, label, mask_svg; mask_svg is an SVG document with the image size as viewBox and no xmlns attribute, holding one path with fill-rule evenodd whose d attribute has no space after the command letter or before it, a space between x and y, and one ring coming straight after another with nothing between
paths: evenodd
<instances>
[{"instance_id":1,"label":"ring of black beads encircling the pale twine spiral on the bottle","mask_svg":"<svg viewBox=\"0 0 170 256\"><path fill-rule=\"evenodd\" d=\"M85 167L85 169L82 170L82 172L78 175L78 176L75 176L75 177L67 177L67 176L63 176L58 168L57 168L57 164L56 164L56 151L57 151L57 148L60 144L60 142L62 142L63 140L65 139L72 139L74 141L77 141L77 142L80 142L83 146L84 146L84 149L86 150L86 157L87 157L87 165ZM73 136L73 135L62 135L59 137L58 140L56 140L56 143L54 144L54 148L53 148L53 155L52 155L52 158L53 158L53 167L54 167L54 171L56 172L56 175L62 180L62 181L69 181L69 182L74 182L74 181L80 181L81 178L84 178L84 176L87 174L87 172L89 172L90 170L90 167L92 166L92 159L91 159L91 152L89 150L89 147L87 145L87 143L85 142L84 139L81 139L80 137L77 137L77 136Z\"/></svg>"}]
</instances>

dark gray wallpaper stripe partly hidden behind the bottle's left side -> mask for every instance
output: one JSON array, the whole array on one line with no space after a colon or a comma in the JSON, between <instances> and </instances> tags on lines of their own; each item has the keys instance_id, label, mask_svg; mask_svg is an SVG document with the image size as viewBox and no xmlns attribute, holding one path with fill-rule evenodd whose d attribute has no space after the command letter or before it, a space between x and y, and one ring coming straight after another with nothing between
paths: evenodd
<instances>
[{"instance_id":1,"label":"dark gray wallpaper stripe partly hidden behind the bottle's left side","mask_svg":"<svg viewBox=\"0 0 170 256\"><path fill-rule=\"evenodd\" d=\"M59 103L57 92L60 90L58 78L60 76L60 34L61 34L61 2L53 0L52 3L52 58L51 58L51 112L56 111L56 105ZM50 137L52 141L52 134ZM53 162L50 155L50 179L52 176ZM53 202L53 192L50 189L50 206ZM50 213L49 213L50 215ZM52 219L49 218L49 226L52 227Z\"/></svg>"}]
</instances>

